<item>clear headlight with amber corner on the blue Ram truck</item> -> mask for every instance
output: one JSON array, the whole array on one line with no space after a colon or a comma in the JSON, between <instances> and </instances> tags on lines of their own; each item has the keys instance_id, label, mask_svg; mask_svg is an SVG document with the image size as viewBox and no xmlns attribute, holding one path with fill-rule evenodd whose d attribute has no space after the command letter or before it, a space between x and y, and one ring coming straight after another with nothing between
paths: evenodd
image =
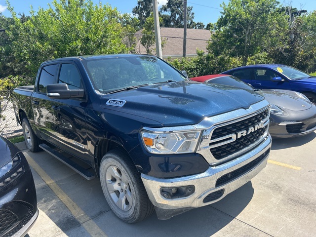
<instances>
[{"instance_id":1,"label":"clear headlight with amber corner on the blue Ram truck","mask_svg":"<svg viewBox=\"0 0 316 237\"><path fill-rule=\"evenodd\" d=\"M196 150L200 131L148 131L141 137L148 152L153 154L193 153Z\"/></svg>"}]
</instances>

